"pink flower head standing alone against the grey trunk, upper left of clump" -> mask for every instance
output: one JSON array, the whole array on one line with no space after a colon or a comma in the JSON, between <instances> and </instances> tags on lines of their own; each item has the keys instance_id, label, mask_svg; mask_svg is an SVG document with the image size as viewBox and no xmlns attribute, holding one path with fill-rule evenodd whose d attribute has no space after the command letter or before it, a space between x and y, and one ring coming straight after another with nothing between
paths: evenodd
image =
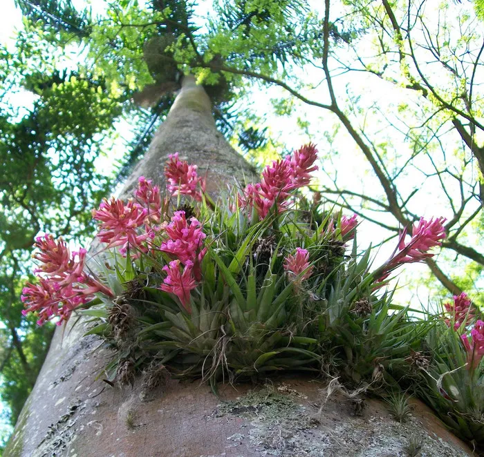
<instances>
[{"instance_id":1,"label":"pink flower head standing alone against the grey trunk, upper left of clump","mask_svg":"<svg viewBox=\"0 0 484 457\"><path fill-rule=\"evenodd\" d=\"M178 159L178 153L170 154L168 157L169 162L165 166L168 191L172 195L189 195L201 202L202 194L198 191L198 186L205 192L205 179L198 177L197 166Z\"/></svg>"}]
</instances>

